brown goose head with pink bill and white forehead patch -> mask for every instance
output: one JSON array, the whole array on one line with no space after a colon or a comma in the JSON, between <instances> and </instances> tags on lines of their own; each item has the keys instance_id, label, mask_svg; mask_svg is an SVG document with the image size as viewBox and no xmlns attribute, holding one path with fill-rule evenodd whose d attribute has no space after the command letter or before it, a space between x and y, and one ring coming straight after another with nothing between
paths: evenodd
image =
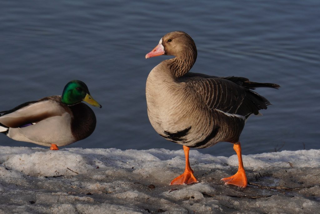
<instances>
[{"instance_id":1,"label":"brown goose head with pink bill and white forehead patch","mask_svg":"<svg viewBox=\"0 0 320 214\"><path fill-rule=\"evenodd\" d=\"M160 55L173 55L176 57L191 54L196 59L197 49L193 39L183 31L174 31L164 35L159 44L148 54L146 59Z\"/></svg>"}]
</instances>

